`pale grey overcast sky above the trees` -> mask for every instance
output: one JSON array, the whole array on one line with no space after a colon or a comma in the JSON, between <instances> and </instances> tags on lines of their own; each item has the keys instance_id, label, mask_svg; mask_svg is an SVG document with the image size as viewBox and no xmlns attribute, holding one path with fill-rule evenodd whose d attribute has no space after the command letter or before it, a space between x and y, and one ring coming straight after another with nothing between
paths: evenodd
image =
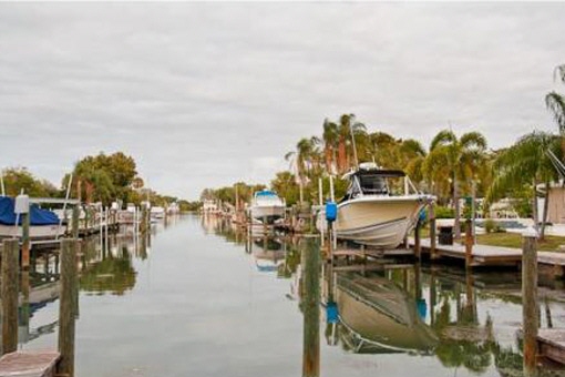
<instances>
[{"instance_id":1,"label":"pale grey overcast sky above the trees","mask_svg":"<svg viewBox=\"0 0 565 377\"><path fill-rule=\"evenodd\" d=\"M355 113L429 143L556 130L565 3L0 3L0 167L58 184L123 151L189 200L268 183L286 152Z\"/></svg>"}]
</instances>

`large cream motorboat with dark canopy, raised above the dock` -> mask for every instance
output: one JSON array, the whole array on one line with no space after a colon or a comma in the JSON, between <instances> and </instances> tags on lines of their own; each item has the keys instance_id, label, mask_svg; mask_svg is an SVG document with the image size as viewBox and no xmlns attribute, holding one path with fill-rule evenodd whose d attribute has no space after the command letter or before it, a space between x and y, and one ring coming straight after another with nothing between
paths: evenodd
<instances>
[{"instance_id":1,"label":"large cream motorboat with dark canopy, raised above the dock","mask_svg":"<svg viewBox=\"0 0 565 377\"><path fill-rule=\"evenodd\" d=\"M422 208L433 200L419 193L404 172L379 169L374 163L362 163L345 177L350 185L338 204L335 230L338 238L358 244L396 248L414 227ZM399 179L403 185L389 182ZM399 190L401 193L394 193Z\"/></svg>"}]
</instances>

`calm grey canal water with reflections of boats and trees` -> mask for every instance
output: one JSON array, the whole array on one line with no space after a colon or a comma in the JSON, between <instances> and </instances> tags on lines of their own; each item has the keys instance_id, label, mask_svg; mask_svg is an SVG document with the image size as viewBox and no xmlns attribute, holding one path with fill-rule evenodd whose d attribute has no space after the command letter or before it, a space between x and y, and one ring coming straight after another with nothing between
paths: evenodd
<instances>
[{"instance_id":1,"label":"calm grey canal water with reflections of boats and trees","mask_svg":"<svg viewBox=\"0 0 565 377\"><path fill-rule=\"evenodd\" d=\"M300 247L298 238L246 240L198 216L157 225L151 242L92 240L76 376L300 376ZM59 300L45 275L56 271L48 263L38 259L32 276L24 349L56 346ZM465 276L391 261L336 272L333 285L340 316L322 308L321 376L520 375L516 273ZM540 296L542 326L565 326L562 288Z\"/></svg>"}]
</instances>

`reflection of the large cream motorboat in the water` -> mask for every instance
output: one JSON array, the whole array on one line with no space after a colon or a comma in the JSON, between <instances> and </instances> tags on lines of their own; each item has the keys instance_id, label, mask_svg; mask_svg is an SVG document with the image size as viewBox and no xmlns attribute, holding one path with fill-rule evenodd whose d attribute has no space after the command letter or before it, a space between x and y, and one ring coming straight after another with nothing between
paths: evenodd
<instances>
[{"instance_id":1,"label":"reflection of the large cream motorboat in the water","mask_svg":"<svg viewBox=\"0 0 565 377\"><path fill-rule=\"evenodd\" d=\"M337 304L342 342L356 353L430 353L438 344L415 302L393 282L371 274L340 273Z\"/></svg>"}]
</instances>

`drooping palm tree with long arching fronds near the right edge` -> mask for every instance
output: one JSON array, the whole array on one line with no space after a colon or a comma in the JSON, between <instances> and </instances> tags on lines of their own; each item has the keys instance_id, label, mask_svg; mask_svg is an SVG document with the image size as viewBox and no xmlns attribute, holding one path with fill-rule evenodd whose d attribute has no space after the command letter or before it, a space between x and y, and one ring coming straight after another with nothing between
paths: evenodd
<instances>
[{"instance_id":1,"label":"drooping palm tree with long arching fronds near the right edge","mask_svg":"<svg viewBox=\"0 0 565 377\"><path fill-rule=\"evenodd\" d=\"M494 202L508 192L530 186L532 190L532 214L537 227L537 185L545 184L545 205L540 237L545 235L549 183L557 179L546 152L559 156L559 136L546 132L532 132L522 136L514 145L503 151L494 162L494 181L487 192L487 202Z\"/></svg>"}]
</instances>

